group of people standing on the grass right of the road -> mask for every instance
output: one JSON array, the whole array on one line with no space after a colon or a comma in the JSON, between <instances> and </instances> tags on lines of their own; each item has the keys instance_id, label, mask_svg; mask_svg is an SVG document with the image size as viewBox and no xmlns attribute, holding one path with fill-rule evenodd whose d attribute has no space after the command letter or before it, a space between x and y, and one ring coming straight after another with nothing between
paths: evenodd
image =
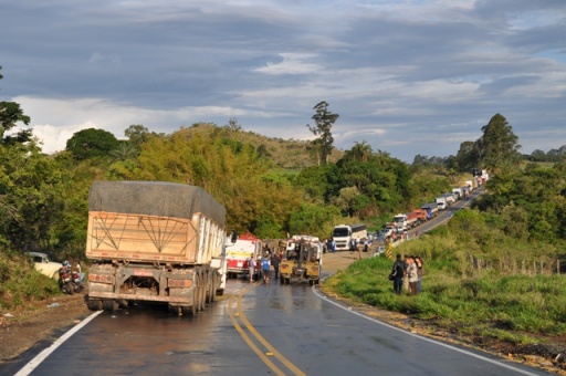
<instances>
[{"instance_id":1,"label":"group of people standing on the grass right of the road","mask_svg":"<svg viewBox=\"0 0 566 376\"><path fill-rule=\"evenodd\" d=\"M418 255L405 255L405 260L397 254L389 279L394 282L394 292L400 295L406 291L417 295L422 291L422 275L424 269L422 259Z\"/></svg>"}]
</instances>

